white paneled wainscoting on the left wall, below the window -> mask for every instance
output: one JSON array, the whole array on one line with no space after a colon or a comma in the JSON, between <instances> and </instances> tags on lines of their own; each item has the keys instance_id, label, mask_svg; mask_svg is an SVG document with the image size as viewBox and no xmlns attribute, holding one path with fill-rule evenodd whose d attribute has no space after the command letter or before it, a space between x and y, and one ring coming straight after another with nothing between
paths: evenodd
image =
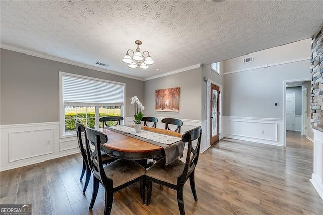
<instances>
[{"instance_id":1,"label":"white paneled wainscoting on the left wall, below the window","mask_svg":"<svg viewBox=\"0 0 323 215\"><path fill-rule=\"evenodd\" d=\"M59 122L2 125L0 171L78 153L76 135L59 139Z\"/></svg>"}]
</instances>

